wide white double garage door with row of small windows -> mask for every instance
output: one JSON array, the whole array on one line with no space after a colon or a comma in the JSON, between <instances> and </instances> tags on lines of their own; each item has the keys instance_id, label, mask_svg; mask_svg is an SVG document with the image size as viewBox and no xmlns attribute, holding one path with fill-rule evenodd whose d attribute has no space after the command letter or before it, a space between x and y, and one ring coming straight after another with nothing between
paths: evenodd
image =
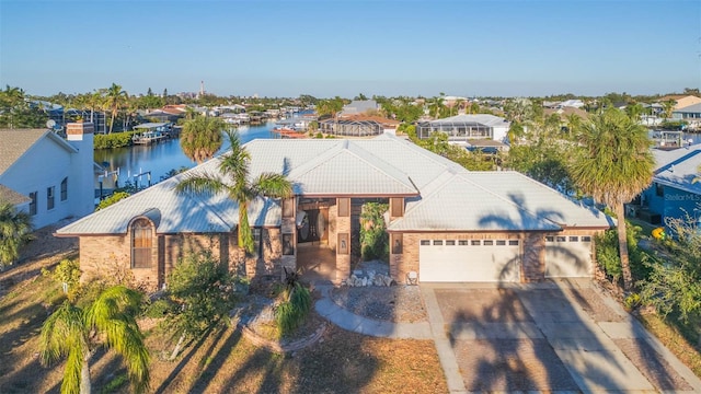
<instances>
[{"instance_id":1,"label":"wide white double garage door with row of small windows","mask_svg":"<svg viewBox=\"0 0 701 394\"><path fill-rule=\"evenodd\" d=\"M422 240L418 279L424 282L520 279L518 240Z\"/></svg>"}]
</instances>

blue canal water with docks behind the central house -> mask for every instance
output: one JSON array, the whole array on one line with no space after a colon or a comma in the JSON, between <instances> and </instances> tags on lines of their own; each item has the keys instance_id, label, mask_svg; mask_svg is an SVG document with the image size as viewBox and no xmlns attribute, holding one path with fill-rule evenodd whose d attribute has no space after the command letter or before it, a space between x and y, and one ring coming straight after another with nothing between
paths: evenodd
<instances>
[{"instance_id":1,"label":"blue canal water with docks behind the central house","mask_svg":"<svg viewBox=\"0 0 701 394\"><path fill-rule=\"evenodd\" d=\"M239 139L242 143L258 138L274 138L272 132L274 123L261 126L241 126L237 130ZM225 137L223 144L217 154L223 153L229 149L229 141ZM119 186L127 181L138 184L139 186L148 186L149 176L152 184L160 182L171 170L181 167L192 169L196 165L191 161L180 147L180 139L162 141L152 146L134 146L117 149L96 150L95 163L101 164L108 172L103 181L105 189L114 188L115 175Z\"/></svg>"}]
</instances>

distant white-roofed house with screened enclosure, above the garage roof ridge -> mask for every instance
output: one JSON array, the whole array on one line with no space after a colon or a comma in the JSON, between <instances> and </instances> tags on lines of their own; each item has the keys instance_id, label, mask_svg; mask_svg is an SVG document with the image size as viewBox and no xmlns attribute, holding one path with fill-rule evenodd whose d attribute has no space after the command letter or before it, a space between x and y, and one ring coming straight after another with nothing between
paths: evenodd
<instances>
[{"instance_id":1,"label":"distant white-roofed house with screened enclosure, above the garage roof ridge","mask_svg":"<svg viewBox=\"0 0 701 394\"><path fill-rule=\"evenodd\" d=\"M440 131L447 134L448 141L453 143L467 143L473 139L493 139L507 142L509 127L508 120L494 115L457 115L420 121L416 124L416 136L421 139L427 139L434 131Z\"/></svg>"}]
</instances>

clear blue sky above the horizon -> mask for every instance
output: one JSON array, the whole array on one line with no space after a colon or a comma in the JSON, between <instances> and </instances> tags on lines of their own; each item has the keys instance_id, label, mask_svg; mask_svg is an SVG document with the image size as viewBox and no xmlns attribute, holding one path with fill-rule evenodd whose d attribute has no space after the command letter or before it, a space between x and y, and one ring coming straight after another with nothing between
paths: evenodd
<instances>
[{"instance_id":1,"label":"clear blue sky above the horizon","mask_svg":"<svg viewBox=\"0 0 701 394\"><path fill-rule=\"evenodd\" d=\"M701 85L701 1L0 0L0 85L83 93L655 94Z\"/></svg>"}]
</instances>

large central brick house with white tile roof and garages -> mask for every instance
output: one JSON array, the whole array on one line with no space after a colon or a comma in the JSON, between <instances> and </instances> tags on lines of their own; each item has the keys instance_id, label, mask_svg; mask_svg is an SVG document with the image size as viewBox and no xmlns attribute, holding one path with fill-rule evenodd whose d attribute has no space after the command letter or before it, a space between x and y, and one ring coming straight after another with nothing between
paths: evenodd
<instances>
[{"instance_id":1,"label":"large central brick house with white tile roof and garages","mask_svg":"<svg viewBox=\"0 0 701 394\"><path fill-rule=\"evenodd\" d=\"M258 139L246 143L250 176L283 173L294 197L248 207L255 253L237 247L239 206L226 195L177 194L188 174L217 174L222 157L59 229L80 239L85 275L105 264L164 283L187 251L206 248L252 279L280 278L310 256L325 279L357 260L363 204L388 204L390 275L399 282L538 281L593 275L594 235L612 225L599 210L516 172L469 172L414 143L374 139ZM225 153L226 154L226 153ZM319 252L311 253L310 252Z\"/></svg>"}]
</instances>

